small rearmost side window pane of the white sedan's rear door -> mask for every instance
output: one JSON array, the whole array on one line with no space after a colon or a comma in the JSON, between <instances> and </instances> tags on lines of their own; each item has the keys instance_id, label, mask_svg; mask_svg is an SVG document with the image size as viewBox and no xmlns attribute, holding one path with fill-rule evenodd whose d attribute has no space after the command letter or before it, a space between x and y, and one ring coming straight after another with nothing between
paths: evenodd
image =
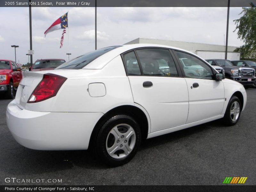
<instances>
[{"instance_id":1,"label":"small rearmost side window pane of the white sedan's rear door","mask_svg":"<svg viewBox=\"0 0 256 192\"><path fill-rule=\"evenodd\" d=\"M128 75L141 75L139 63L133 51L124 54L124 63L126 65Z\"/></svg>"}]
</instances>

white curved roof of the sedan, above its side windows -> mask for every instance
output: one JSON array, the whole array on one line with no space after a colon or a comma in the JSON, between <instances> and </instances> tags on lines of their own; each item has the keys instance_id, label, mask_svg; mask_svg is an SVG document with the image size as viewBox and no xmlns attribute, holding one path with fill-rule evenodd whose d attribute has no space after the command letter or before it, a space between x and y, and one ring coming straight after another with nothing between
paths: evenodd
<instances>
[{"instance_id":1,"label":"white curved roof of the sedan, above its side windows","mask_svg":"<svg viewBox=\"0 0 256 192\"><path fill-rule=\"evenodd\" d=\"M129 50L132 49L136 49L136 48L168 48L168 49L176 49L179 51L184 51L184 52L188 52L192 55L195 55L196 57L204 60L203 58L199 57L198 55L189 52L187 50L184 49L180 49L177 47L172 47L172 46L168 46L168 45L160 45L160 44L128 44L128 45L122 45L120 47L117 47L109 52L106 52L105 54L101 55L100 57L98 57L97 59L93 60L90 64L86 65L83 69L101 69L103 68L109 61L111 61L112 59L114 59L115 57L117 57L118 55L127 52Z\"/></svg>"}]
</instances>

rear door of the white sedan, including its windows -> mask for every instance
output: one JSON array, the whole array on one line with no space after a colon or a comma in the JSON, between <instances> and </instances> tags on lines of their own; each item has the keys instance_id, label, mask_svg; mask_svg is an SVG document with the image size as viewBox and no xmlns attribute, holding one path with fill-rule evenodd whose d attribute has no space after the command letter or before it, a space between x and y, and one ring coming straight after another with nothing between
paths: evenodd
<instances>
[{"instance_id":1,"label":"rear door of the white sedan, including its windows","mask_svg":"<svg viewBox=\"0 0 256 192\"><path fill-rule=\"evenodd\" d=\"M151 132L185 124L188 88L170 51L143 48L122 56L134 102L147 110Z\"/></svg>"}]
</instances>

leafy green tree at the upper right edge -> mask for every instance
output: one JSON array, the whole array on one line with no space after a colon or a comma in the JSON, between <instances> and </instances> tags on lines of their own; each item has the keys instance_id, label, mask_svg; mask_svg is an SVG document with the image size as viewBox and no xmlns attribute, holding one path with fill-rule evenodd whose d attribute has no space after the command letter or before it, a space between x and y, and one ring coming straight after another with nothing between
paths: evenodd
<instances>
[{"instance_id":1,"label":"leafy green tree at the upper right edge","mask_svg":"<svg viewBox=\"0 0 256 192\"><path fill-rule=\"evenodd\" d=\"M235 51L241 52L241 58L256 58L256 7L253 3L251 7L243 7L240 14L244 14L240 19L236 19L236 29L238 38L243 40L244 45Z\"/></svg>"}]
</instances>

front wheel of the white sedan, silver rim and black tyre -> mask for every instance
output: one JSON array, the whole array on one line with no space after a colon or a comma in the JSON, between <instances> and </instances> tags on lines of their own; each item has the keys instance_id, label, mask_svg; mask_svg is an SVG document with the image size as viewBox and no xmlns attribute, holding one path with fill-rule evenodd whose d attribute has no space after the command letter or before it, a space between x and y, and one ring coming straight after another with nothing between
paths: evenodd
<instances>
[{"instance_id":1,"label":"front wheel of the white sedan, silver rim and black tyre","mask_svg":"<svg viewBox=\"0 0 256 192\"><path fill-rule=\"evenodd\" d=\"M227 126L235 125L240 118L241 110L240 100L238 97L232 96L228 102L228 106L223 117L223 123Z\"/></svg>"}]
</instances>

